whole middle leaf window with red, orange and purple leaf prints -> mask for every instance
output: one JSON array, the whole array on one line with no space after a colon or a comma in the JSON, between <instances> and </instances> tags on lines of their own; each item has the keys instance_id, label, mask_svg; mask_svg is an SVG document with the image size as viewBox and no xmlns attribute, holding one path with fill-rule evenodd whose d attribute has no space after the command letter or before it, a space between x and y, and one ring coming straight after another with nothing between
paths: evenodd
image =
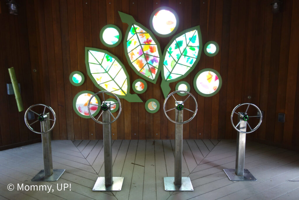
<instances>
[{"instance_id":1,"label":"whole middle leaf window with red, orange and purple leaf prints","mask_svg":"<svg viewBox=\"0 0 299 200\"><path fill-rule=\"evenodd\" d=\"M125 55L129 65L138 76L156 83L161 68L161 48L154 34L128 14L119 12L128 29L123 40Z\"/></svg>"}]
</instances>

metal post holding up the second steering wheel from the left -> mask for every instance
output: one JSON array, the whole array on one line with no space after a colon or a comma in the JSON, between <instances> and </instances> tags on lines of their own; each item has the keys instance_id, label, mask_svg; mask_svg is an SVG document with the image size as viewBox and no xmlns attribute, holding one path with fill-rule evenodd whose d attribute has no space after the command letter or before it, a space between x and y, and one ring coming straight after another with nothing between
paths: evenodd
<instances>
[{"instance_id":1,"label":"metal post holding up the second steering wheel from the left","mask_svg":"<svg viewBox=\"0 0 299 200\"><path fill-rule=\"evenodd\" d=\"M109 111L103 112L103 122L110 122ZM105 185L112 185L112 137L111 124L103 124L103 142L104 142L104 169L105 169Z\"/></svg>"}]
</instances>

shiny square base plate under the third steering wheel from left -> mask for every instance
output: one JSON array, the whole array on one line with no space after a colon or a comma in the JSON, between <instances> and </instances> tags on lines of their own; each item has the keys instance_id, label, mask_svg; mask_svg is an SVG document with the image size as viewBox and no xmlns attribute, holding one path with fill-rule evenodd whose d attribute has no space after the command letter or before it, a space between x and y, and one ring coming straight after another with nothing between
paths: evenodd
<instances>
[{"instance_id":1,"label":"shiny square base plate under the third steering wheel from left","mask_svg":"<svg viewBox=\"0 0 299 200\"><path fill-rule=\"evenodd\" d=\"M182 177L182 184L175 185L174 177L164 177L165 191L193 191L193 186L189 177Z\"/></svg>"}]
</instances>

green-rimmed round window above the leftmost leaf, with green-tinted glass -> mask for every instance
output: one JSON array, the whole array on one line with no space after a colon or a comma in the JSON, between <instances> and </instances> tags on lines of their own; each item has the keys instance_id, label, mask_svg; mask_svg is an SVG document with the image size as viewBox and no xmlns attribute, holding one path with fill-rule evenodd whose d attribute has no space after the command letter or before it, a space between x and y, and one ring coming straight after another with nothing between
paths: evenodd
<instances>
[{"instance_id":1,"label":"green-rimmed round window above the leftmost leaf, with green-tinted glass","mask_svg":"<svg viewBox=\"0 0 299 200\"><path fill-rule=\"evenodd\" d=\"M100 31L101 42L108 47L118 46L121 41L121 31L113 24L104 26Z\"/></svg>"}]
</instances>

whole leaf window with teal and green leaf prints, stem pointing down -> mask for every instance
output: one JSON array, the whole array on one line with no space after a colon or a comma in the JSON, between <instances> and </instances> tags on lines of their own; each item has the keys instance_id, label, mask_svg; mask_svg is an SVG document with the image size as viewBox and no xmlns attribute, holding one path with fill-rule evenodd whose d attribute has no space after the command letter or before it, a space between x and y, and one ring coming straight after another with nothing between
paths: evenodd
<instances>
[{"instance_id":1,"label":"whole leaf window with teal and green leaf prints, stem pointing down","mask_svg":"<svg viewBox=\"0 0 299 200\"><path fill-rule=\"evenodd\" d=\"M196 66L202 52L200 27L195 26L175 35L164 49L161 68L161 88L166 98L169 83L186 77Z\"/></svg>"}]
</instances>

